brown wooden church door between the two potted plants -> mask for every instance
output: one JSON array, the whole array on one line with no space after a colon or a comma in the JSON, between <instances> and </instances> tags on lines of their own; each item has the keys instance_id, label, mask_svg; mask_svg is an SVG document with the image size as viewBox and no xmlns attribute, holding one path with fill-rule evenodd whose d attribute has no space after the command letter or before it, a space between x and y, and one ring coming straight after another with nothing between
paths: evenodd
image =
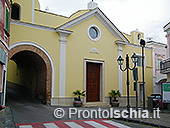
<instances>
[{"instance_id":1,"label":"brown wooden church door between the two potted plants","mask_svg":"<svg viewBox=\"0 0 170 128\"><path fill-rule=\"evenodd\" d=\"M100 101L100 67L98 63L87 63L86 96L87 102Z\"/></svg>"}]
</instances>

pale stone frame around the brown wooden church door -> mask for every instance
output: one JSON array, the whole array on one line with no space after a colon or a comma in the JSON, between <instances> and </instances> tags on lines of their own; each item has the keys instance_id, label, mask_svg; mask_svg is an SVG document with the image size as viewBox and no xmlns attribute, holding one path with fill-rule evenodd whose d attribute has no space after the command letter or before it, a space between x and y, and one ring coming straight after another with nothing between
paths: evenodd
<instances>
[{"instance_id":1,"label":"pale stone frame around the brown wooden church door","mask_svg":"<svg viewBox=\"0 0 170 128\"><path fill-rule=\"evenodd\" d=\"M86 90L86 70L87 70L87 62L98 63L101 64L100 67L100 102L104 103L105 99L105 62L103 60L92 60L92 59L84 59L84 90ZM84 103L86 104L86 97L84 97ZM94 102L96 103L96 102Z\"/></svg>"}]
</instances>

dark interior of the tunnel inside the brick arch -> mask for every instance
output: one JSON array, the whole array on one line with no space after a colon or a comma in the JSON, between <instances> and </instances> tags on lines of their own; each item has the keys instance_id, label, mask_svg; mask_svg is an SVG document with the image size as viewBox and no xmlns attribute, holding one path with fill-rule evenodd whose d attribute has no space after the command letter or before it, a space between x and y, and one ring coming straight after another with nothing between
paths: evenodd
<instances>
[{"instance_id":1,"label":"dark interior of the tunnel inside the brick arch","mask_svg":"<svg viewBox=\"0 0 170 128\"><path fill-rule=\"evenodd\" d=\"M47 69L43 59L34 52L21 51L13 55L10 61L15 63L17 72L13 74L9 69L11 74L8 74L7 87L46 103ZM12 78L17 80L13 82Z\"/></svg>"}]
</instances>

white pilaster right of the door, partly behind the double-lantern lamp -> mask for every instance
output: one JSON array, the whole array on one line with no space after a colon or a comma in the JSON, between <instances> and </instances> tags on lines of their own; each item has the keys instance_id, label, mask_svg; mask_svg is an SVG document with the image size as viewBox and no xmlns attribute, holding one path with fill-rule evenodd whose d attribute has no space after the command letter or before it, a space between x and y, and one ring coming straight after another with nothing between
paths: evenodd
<instances>
[{"instance_id":1,"label":"white pilaster right of the door, partly behind the double-lantern lamp","mask_svg":"<svg viewBox=\"0 0 170 128\"><path fill-rule=\"evenodd\" d=\"M118 56L122 56L123 53L123 46L126 44L125 42L122 41L116 41L116 44L118 45ZM119 69L119 91L121 95L123 95L123 73Z\"/></svg>"}]
</instances>

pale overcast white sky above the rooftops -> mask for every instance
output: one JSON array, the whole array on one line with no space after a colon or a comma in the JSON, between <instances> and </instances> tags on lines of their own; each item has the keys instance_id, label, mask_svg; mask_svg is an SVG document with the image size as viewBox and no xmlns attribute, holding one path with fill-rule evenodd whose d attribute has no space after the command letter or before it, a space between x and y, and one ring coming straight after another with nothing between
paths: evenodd
<instances>
[{"instance_id":1,"label":"pale overcast white sky above the rooftops","mask_svg":"<svg viewBox=\"0 0 170 128\"><path fill-rule=\"evenodd\" d=\"M39 0L41 10L71 16L87 9L91 0ZM102 12L121 31L130 34L138 29L144 38L167 43L163 27L170 22L170 0L94 0Z\"/></svg>"}]
</instances>

